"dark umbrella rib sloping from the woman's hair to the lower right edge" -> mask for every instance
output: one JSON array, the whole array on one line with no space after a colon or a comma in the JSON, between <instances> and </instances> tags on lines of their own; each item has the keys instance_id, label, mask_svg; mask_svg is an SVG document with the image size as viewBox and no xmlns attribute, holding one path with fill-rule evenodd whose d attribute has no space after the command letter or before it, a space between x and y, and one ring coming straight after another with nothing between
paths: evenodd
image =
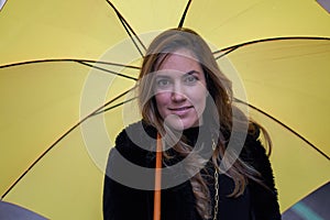
<instances>
[{"instance_id":1,"label":"dark umbrella rib sloping from the woman's hair to the lower right edge","mask_svg":"<svg viewBox=\"0 0 330 220\"><path fill-rule=\"evenodd\" d=\"M330 157L322 152L321 150L319 150L315 144L312 144L310 141L308 141L306 138L304 138L301 134L299 134L298 132L296 132L295 130L293 130L292 128L289 128L288 125L286 125L285 123L283 123L282 121L279 121L278 119L272 117L271 114L268 114L267 112L256 108L255 106L252 106L251 103L248 103L245 101L242 101L238 98L234 98L234 101L239 102L239 103L243 103L254 110L256 110L257 112L264 114L265 117L274 120L276 123L278 123L279 125L282 125L283 128L285 128L286 130L288 130L289 132L294 133L296 136L298 136L300 140L302 140L305 143L307 143L309 146L311 146L314 150L316 150L319 154L321 154L322 156L324 156L326 158L330 160Z\"/></svg>"}]
</instances>

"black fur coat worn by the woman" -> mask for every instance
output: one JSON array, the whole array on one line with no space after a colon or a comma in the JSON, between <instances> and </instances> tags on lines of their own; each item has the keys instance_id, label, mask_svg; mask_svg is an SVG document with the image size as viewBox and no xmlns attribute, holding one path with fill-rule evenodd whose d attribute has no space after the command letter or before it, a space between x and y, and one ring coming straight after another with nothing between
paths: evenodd
<instances>
[{"instance_id":1,"label":"black fur coat worn by the woman","mask_svg":"<svg viewBox=\"0 0 330 220\"><path fill-rule=\"evenodd\" d=\"M142 125L143 124L143 125ZM189 129L184 133L196 142L198 129ZM257 134L258 135L258 134ZM219 215L220 220L279 220L277 191L268 157L264 147L257 141L257 135L248 135L240 157L257 169L268 187L249 180L242 196L228 197L232 193L233 182L227 175L220 174L219 183ZM154 176L131 169L123 161L129 161L136 167L155 166L155 153L147 147L155 147L156 130L142 122L123 130L117 138L116 147L111 150L107 175L103 186L103 218L105 220L152 220ZM153 139L151 139L153 138ZM133 140L133 141L132 141ZM210 139L201 140L211 144ZM143 146L143 148L139 147ZM123 156L123 157L122 157ZM120 160L124 158L124 160ZM208 163L210 165L211 163ZM207 165L207 166L208 166ZM206 169L212 173L213 167ZM133 172L130 172L133 170ZM144 169L143 169L144 170ZM169 174L174 179L177 172ZM109 177L110 176L110 177ZM209 184L211 199L215 198L215 180ZM130 183L135 183L131 185ZM162 190L162 220L201 220L195 207L195 197L189 180Z\"/></svg>"}]
</instances>

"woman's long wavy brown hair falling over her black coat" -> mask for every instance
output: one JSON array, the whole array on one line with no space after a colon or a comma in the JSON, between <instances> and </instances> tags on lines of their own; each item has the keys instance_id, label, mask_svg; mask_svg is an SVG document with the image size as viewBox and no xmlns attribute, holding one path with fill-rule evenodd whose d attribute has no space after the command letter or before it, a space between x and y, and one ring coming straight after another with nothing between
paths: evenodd
<instances>
[{"instance_id":1,"label":"woman's long wavy brown hair falling over her black coat","mask_svg":"<svg viewBox=\"0 0 330 220\"><path fill-rule=\"evenodd\" d=\"M160 116L155 99L153 98L153 75L160 68L162 62L168 56L168 54L175 53L176 51L185 48L190 51L198 59L201 68L204 70L207 89L209 91L209 101L212 101L216 108L206 108L204 114L210 118L207 121L207 125L210 131L217 133L217 146L212 153L212 163L217 169L222 170L226 175L230 176L234 182L234 189L231 197L238 197L242 195L248 185L248 179L253 179L262 184L260 180L260 174L252 166L244 163L240 157L239 153L235 151L229 152L229 156L226 157L226 163L228 167L221 166L221 160L223 163L224 153L227 150L228 135L223 135L223 132L230 132L233 129L234 120L239 123L246 123L245 132L264 132L266 138L266 144L271 147L271 140L267 133L261 128L255 127L238 108L233 106L233 94L232 84L224 76L224 74L219 69L219 66L211 53L210 47L207 43L193 30L189 29L172 29L160 34L150 45L146 52L146 56L143 59L142 69L138 82L138 97L139 107L141 109L142 118L145 122L152 124L157 129L161 135L173 136L173 142L175 143L175 134L166 130L163 125L163 119ZM233 112L240 112L239 116L233 116ZM221 119L221 120L219 120ZM240 128L240 127L239 127ZM244 127L242 127L244 128ZM220 134L220 135L219 135ZM174 144L174 150L182 156L187 156L191 153L191 146L189 146L185 140L180 140ZM167 155L165 155L166 158ZM200 158L198 155L191 157L190 163L188 163L187 169L189 173L194 173L196 169L205 165L205 160ZM195 173L194 173L195 174ZM199 215L202 219L208 219L211 216L210 207L210 195L208 190L207 183L201 176L200 172L197 172L190 178L193 186L193 191L196 198L196 206Z\"/></svg>"}]
</instances>

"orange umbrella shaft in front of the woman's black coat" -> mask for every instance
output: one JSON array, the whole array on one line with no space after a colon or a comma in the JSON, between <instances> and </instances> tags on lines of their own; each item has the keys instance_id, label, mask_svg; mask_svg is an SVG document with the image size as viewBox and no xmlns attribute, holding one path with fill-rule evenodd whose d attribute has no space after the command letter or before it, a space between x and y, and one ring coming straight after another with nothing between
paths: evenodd
<instances>
[{"instance_id":1,"label":"orange umbrella shaft in front of the woman's black coat","mask_svg":"<svg viewBox=\"0 0 330 220\"><path fill-rule=\"evenodd\" d=\"M162 186L162 136L157 134L155 193L154 193L154 220L161 220L161 186Z\"/></svg>"}]
</instances>

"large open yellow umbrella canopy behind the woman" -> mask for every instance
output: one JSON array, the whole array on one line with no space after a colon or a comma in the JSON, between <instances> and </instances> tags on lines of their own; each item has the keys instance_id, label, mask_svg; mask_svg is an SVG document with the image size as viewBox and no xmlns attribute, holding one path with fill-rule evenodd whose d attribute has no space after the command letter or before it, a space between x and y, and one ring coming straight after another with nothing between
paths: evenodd
<instances>
[{"instance_id":1,"label":"large open yellow umbrella canopy behind the woman","mask_svg":"<svg viewBox=\"0 0 330 220\"><path fill-rule=\"evenodd\" d=\"M134 85L144 46L179 23L212 45L234 87L243 81L273 138L282 210L329 182L330 16L318 2L12 0L0 12L2 199L100 219L102 168L125 124L116 98ZM88 130L100 120L108 140Z\"/></svg>"}]
</instances>

